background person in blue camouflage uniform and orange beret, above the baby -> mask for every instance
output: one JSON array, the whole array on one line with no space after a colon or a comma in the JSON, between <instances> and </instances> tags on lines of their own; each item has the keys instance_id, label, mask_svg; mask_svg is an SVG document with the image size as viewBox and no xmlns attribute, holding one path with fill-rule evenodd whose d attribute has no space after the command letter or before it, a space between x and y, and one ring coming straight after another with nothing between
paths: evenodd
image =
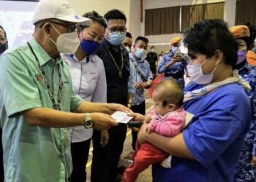
<instances>
[{"instance_id":1,"label":"background person in blue camouflage uniform and orange beret, above the baby","mask_svg":"<svg viewBox=\"0 0 256 182\"><path fill-rule=\"evenodd\" d=\"M171 50L164 55L157 70L159 74L165 73L163 79L173 77L184 88L184 72L189 58L179 50L181 39L181 36L177 36L170 40Z\"/></svg>"}]
</instances>

